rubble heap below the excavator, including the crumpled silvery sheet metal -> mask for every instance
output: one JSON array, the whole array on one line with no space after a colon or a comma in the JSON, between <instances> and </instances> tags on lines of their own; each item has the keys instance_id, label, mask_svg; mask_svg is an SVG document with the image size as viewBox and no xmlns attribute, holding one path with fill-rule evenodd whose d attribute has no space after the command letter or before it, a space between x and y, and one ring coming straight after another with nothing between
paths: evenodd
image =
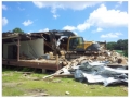
<instances>
[{"instance_id":1,"label":"rubble heap below the excavator, including the crumpled silvery sheet metal","mask_svg":"<svg viewBox=\"0 0 130 98\"><path fill-rule=\"evenodd\" d=\"M128 83L128 59L115 51L105 51L99 57L80 57L73 61L65 60L64 66L54 74L44 76L70 76L88 83L103 83L104 86L117 83ZM115 63L117 68L108 64Z\"/></svg>"}]
</instances>

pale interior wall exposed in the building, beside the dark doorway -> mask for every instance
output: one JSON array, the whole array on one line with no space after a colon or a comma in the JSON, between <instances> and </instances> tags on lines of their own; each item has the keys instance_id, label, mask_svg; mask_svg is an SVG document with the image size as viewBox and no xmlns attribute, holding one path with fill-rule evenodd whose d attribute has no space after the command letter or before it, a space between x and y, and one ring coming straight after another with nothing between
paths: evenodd
<instances>
[{"instance_id":1,"label":"pale interior wall exposed in the building, beside the dark doorway","mask_svg":"<svg viewBox=\"0 0 130 98\"><path fill-rule=\"evenodd\" d=\"M10 44L3 45L3 58L5 58L5 59L8 58L8 46L9 45L15 45L15 42L10 42ZM36 40L21 41L20 45L21 45L20 53L24 52L25 54L27 54L30 58L38 58L38 57L44 54L43 38L36 39ZM32 49L29 45L32 47L32 49L36 53L32 51Z\"/></svg>"}]
</instances>

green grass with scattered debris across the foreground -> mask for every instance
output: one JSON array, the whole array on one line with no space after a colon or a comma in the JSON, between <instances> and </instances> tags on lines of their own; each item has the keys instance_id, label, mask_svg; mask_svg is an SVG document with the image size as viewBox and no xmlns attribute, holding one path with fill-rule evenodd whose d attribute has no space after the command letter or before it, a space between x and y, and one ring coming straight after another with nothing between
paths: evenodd
<instances>
[{"instance_id":1,"label":"green grass with scattered debris across the foreground","mask_svg":"<svg viewBox=\"0 0 130 98\"><path fill-rule=\"evenodd\" d=\"M104 87L101 84L87 84L74 78L54 77L42 79L47 74L24 75L22 71L2 72L2 96L34 96L47 93L49 96L128 96L123 85ZM39 79L34 81L34 77ZM69 91L69 95L65 95Z\"/></svg>"}]
</instances>

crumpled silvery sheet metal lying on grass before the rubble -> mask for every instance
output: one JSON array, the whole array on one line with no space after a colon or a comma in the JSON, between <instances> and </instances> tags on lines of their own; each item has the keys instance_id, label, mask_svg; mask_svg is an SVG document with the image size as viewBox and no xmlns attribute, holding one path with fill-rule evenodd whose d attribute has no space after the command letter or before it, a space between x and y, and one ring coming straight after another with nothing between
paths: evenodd
<instances>
[{"instance_id":1,"label":"crumpled silvery sheet metal lying on grass before the rubble","mask_svg":"<svg viewBox=\"0 0 130 98\"><path fill-rule=\"evenodd\" d=\"M104 83L104 86L126 82L128 83L128 70L118 70L106 66L106 64L83 61L74 73L75 78L88 83Z\"/></svg>"}]
</instances>

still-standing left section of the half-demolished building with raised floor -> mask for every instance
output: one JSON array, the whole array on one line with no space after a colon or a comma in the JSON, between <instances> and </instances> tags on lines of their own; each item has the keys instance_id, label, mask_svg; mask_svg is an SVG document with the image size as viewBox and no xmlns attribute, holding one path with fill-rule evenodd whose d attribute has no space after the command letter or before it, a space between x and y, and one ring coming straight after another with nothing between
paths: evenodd
<instances>
[{"instance_id":1,"label":"still-standing left section of the half-demolished building with raised floor","mask_svg":"<svg viewBox=\"0 0 130 98\"><path fill-rule=\"evenodd\" d=\"M47 33L2 33L2 64L56 71L60 69L58 57L49 60L46 54L52 50L50 47Z\"/></svg>"}]
</instances>

